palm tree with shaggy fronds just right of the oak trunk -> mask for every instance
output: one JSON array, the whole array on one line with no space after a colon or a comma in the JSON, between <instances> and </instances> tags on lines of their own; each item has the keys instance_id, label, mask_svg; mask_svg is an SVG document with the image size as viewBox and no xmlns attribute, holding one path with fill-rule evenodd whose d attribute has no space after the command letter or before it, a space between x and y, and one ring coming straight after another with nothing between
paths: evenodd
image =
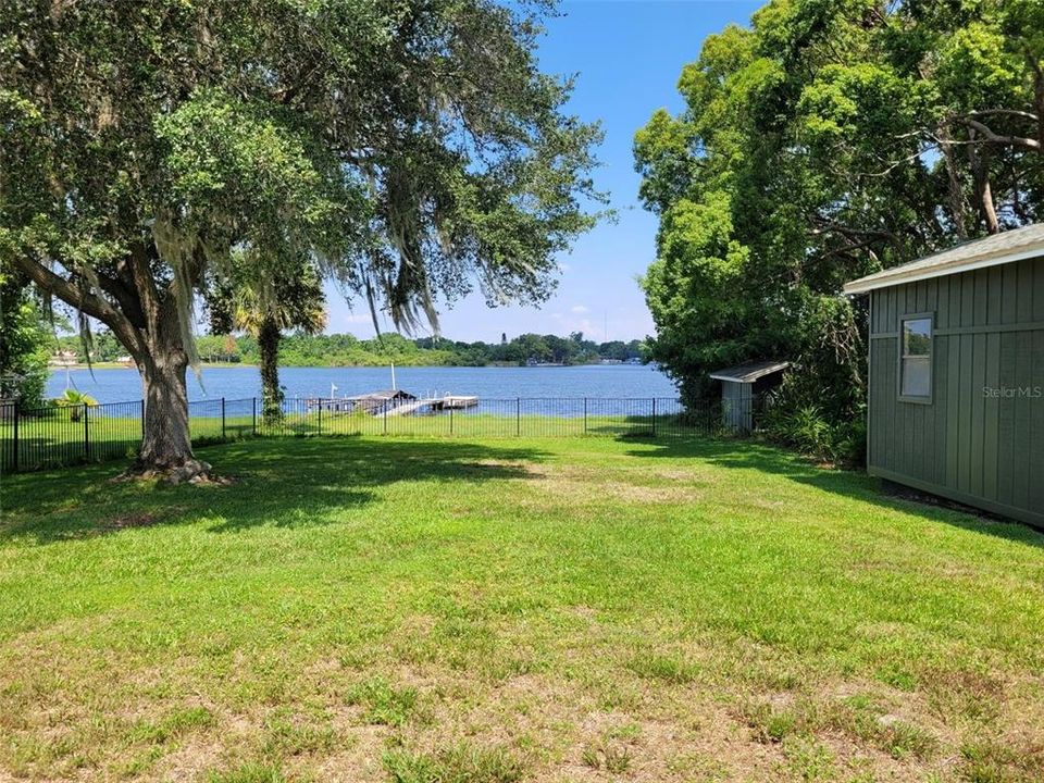
<instances>
[{"instance_id":1,"label":"palm tree with shaggy fronds just right of the oak trunk","mask_svg":"<svg viewBox=\"0 0 1044 783\"><path fill-rule=\"evenodd\" d=\"M243 330L258 340L261 362L261 411L265 424L283 418L283 389L279 386L279 340L285 330L307 334L326 326L326 297L314 266L307 260L295 273L284 268L263 278L244 274L257 269L234 264L229 279L212 286L208 297L211 330L229 333Z\"/></svg>"}]
</instances>

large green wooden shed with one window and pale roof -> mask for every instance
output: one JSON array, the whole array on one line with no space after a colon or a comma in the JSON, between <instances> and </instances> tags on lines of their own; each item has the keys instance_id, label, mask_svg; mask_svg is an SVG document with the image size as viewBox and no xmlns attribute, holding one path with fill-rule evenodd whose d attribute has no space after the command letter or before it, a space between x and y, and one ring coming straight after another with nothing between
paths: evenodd
<instances>
[{"instance_id":1,"label":"large green wooden shed with one window and pale roof","mask_svg":"<svg viewBox=\"0 0 1044 783\"><path fill-rule=\"evenodd\" d=\"M1044 224L845 293L870 295L870 474L1044 526Z\"/></svg>"}]
</instances>

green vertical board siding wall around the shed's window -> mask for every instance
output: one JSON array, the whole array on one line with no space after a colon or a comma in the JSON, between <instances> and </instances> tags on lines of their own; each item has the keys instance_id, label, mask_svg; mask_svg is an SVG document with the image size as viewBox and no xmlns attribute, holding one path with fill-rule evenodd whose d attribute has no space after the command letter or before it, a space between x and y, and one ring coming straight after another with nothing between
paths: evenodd
<instances>
[{"instance_id":1,"label":"green vertical board siding wall around the shed's window","mask_svg":"<svg viewBox=\"0 0 1044 783\"><path fill-rule=\"evenodd\" d=\"M871 470L1044 513L1044 259L871 296ZM930 405L898 400L900 321L915 312L934 313Z\"/></svg>"}]
</instances>

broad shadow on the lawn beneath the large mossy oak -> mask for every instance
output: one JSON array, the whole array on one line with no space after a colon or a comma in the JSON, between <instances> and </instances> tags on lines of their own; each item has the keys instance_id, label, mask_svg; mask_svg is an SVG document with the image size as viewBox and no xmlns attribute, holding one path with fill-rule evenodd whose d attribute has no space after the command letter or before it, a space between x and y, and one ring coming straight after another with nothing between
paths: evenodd
<instances>
[{"instance_id":1,"label":"broad shadow on the lawn beneath the large mossy oak","mask_svg":"<svg viewBox=\"0 0 1044 783\"><path fill-rule=\"evenodd\" d=\"M259 438L199 448L197 455L234 483L112 483L123 467L111 464L4 476L0 543L50 544L201 520L211 520L215 533L328 524L336 518L331 512L378 501L383 486L437 481L453 492L462 482L529 478L518 463L544 458L532 448L355 437Z\"/></svg>"}]
</instances>

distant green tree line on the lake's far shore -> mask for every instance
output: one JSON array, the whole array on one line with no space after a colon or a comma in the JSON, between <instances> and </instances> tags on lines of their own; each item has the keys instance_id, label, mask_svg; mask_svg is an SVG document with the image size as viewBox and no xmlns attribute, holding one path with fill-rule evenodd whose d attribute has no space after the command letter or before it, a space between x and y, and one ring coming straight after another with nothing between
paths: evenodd
<instances>
[{"instance_id":1,"label":"distant green tree line on the lake's far shore","mask_svg":"<svg viewBox=\"0 0 1044 783\"><path fill-rule=\"evenodd\" d=\"M59 349L87 360L84 345L77 336L61 337ZM258 364L261 350L258 337L251 333L240 336L207 335L197 339L203 362ZM113 362L126 355L120 341L109 332L94 336L90 347L92 362ZM391 333L371 339L350 334L290 333L279 345L279 364L283 366L371 366L396 362L408 365L484 366L487 364L589 364L600 361L645 361L642 340L610 340L595 343L581 332L568 337L558 335L523 334L512 339L506 336L499 343L465 343L445 338L409 339Z\"/></svg>"}]
</instances>

